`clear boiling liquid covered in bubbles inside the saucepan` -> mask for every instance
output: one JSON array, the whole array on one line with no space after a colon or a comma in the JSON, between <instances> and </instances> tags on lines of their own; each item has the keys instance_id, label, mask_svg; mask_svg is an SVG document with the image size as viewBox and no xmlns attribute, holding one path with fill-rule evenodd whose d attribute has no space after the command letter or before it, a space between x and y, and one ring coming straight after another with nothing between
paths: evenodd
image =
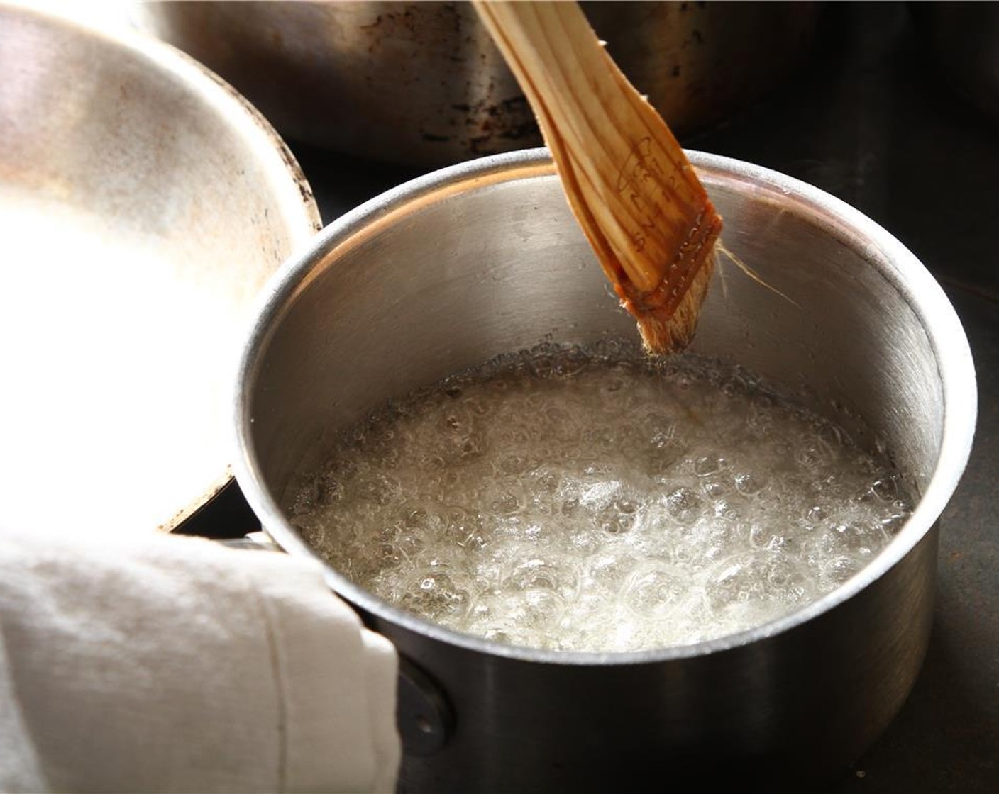
<instances>
[{"instance_id":1,"label":"clear boiling liquid covered in bubbles inside the saucepan","mask_svg":"<svg viewBox=\"0 0 999 794\"><path fill-rule=\"evenodd\" d=\"M286 509L358 584L451 628L624 651L772 620L910 511L898 472L741 371L553 346L394 403Z\"/></svg>"}]
</instances>

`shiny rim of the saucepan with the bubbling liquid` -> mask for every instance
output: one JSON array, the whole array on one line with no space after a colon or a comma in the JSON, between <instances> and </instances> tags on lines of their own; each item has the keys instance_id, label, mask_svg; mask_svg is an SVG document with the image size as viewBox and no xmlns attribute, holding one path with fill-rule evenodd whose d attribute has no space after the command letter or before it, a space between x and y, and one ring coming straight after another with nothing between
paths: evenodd
<instances>
[{"instance_id":1,"label":"shiny rim of the saucepan with the bubbling liquid","mask_svg":"<svg viewBox=\"0 0 999 794\"><path fill-rule=\"evenodd\" d=\"M607 665L656 663L705 656L757 642L789 631L854 597L887 573L930 531L963 473L971 450L977 410L974 365L967 338L943 290L891 234L865 215L833 196L792 177L760 166L718 155L688 151L710 192L712 184L741 185L754 194L768 194L783 205L796 205L823 231L859 253L898 291L922 323L939 370L943 391L943 427L939 455L913 514L898 535L870 563L835 590L783 617L733 634L687 645L641 651L549 651L506 645L464 634L395 607L358 586L327 564L299 535L268 492L260 461L252 444L254 417L248 385L271 336L295 297L308 288L314 269L334 252L353 248L402 215L445 197L515 179L551 177L554 167L546 149L530 149L486 157L441 169L394 188L330 224L304 256L289 260L273 277L238 367L234 400L237 480L268 534L285 550L319 560L330 586L367 612L416 634L470 650L526 662Z\"/></svg>"}]
</instances>

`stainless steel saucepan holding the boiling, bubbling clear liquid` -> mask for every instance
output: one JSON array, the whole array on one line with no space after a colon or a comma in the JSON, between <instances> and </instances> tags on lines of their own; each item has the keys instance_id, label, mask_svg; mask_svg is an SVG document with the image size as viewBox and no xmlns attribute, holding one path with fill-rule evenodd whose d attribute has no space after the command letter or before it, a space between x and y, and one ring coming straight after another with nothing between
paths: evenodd
<instances>
[{"instance_id":1,"label":"stainless steel saucepan holding the boiling, bubbling clear liquid","mask_svg":"<svg viewBox=\"0 0 999 794\"><path fill-rule=\"evenodd\" d=\"M559 653L456 633L327 567L404 660L406 791L610 791L650 783L814 791L906 698L927 646L937 519L967 460L975 378L944 293L897 240L814 188L692 153L724 241L694 350L782 383L917 484L888 547L838 589L732 636ZM293 474L389 397L543 340L633 339L543 150L449 168L328 227L272 283L235 398L237 477L268 532ZM861 419L863 421L860 421ZM871 431L864 435L861 425ZM422 737L422 738L421 738Z\"/></svg>"}]
</instances>

